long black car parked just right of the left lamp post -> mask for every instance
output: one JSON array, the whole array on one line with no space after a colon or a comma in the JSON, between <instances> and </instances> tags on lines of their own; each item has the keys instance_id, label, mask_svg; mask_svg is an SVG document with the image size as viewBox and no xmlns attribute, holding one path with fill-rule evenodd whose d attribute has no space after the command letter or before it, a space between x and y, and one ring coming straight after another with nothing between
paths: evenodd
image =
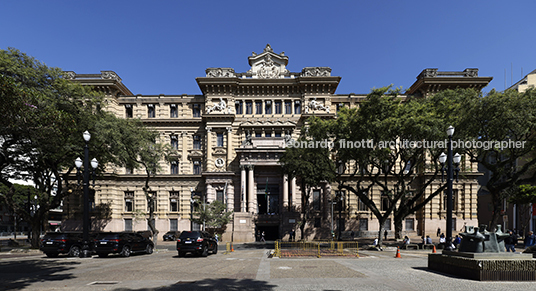
<instances>
[{"instance_id":1,"label":"long black car parked just right of the left lamp post","mask_svg":"<svg viewBox=\"0 0 536 291\"><path fill-rule=\"evenodd\" d=\"M103 232L95 239L94 250L101 258L108 254L129 257L131 253L152 254L153 242L135 232Z\"/></svg>"}]
</instances>

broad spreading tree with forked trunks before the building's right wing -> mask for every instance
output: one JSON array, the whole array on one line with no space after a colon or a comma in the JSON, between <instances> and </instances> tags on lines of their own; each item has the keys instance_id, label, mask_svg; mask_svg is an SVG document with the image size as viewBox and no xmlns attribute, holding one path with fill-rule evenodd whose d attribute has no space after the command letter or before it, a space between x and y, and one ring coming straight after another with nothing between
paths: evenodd
<instances>
[{"instance_id":1,"label":"broad spreading tree with forked trunks before the building's right wing","mask_svg":"<svg viewBox=\"0 0 536 291\"><path fill-rule=\"evenodd\" d=\"M356 195L378 219L380 245L391 215L400 238L403 220L444 188L425 195L439 172L440 151L408 143L437 140L442 120L425 99L403 100L398 92L391 87L374 89L358 108L342 108L334 120L310 120L309 134L333 142L338 188ZM371 199L373 188L382 192L380 204Z\"/></svg>"}]
</instances>

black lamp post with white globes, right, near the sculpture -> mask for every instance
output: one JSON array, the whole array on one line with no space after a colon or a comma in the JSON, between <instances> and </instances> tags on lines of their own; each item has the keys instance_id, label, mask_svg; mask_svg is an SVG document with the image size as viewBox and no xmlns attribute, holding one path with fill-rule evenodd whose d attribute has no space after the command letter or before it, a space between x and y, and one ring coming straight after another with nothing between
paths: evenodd
<instances>
[{"instance_id":1,"label":"black lamp post with white globes, right, near the sculpture","mask_svg":"<svg viewBox=\"0 0 536 291\"><path fill-rule=\"evenodd\" d=\"M441 153L439 156L439 162L443 165L441 173L444 171L445 162L447 162L447 237L444 250L452 251L454 250L454 245L452 244L452 182L454 180L454 171L456 171L456 181L458 181L458 164L460 163L461 156L456 153L452 156L452 136L454 135L454 127L449 126L447 129L447 135L449 137L447 155ZM454 168L456 166L456 168Z\"/></svg>"}]
</instances>

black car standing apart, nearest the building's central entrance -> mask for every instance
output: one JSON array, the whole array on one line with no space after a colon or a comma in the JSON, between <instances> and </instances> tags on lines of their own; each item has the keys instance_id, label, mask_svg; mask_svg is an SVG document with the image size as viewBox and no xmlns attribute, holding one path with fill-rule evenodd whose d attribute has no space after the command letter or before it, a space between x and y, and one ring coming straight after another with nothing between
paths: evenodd
<instances>
[{"instance_id":1,"label":"black car standing apart, nearest the building's central entrance","mask_svg":"<svg viewBox=\"0 0 536 291\"><path fill-rule=\"evenodd\" d=\"M188 252L206 257L209 251L218 253L218 242L206 231L183 231L177 239L177 251L179 257Z\"/></svg>"}]
</instances>

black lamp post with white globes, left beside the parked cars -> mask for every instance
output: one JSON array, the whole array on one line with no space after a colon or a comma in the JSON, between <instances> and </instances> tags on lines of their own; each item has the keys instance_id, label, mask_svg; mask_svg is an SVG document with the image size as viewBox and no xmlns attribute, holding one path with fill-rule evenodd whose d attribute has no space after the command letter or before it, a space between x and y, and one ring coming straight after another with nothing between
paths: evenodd
<instances>
[{"instance_id":1,"label":"black lamp post with white globes, left beside the parked cars","mask_svg":"<svg viewBox=\"0 0 536 291\"><path fill-rule=\"evenodd\" d=\"M84 169L82 173L83 177L83 186L84 186L84 216L83 216L83 237L82 237L82 251L80 252L81 258L91 257L91 252L89 250L89 146L88 142L91 139L91 134L86 130L83 134L84 141L86 145L84 147ZM80 168L82 167L82 159L80 157L75 160L76 168L78 169L78 175L80 175ZM99 163L97 159L91 160L91 167L93 168L93 185L95 185L95 169L98 167Z\"/></svg>"}]
</instances>

